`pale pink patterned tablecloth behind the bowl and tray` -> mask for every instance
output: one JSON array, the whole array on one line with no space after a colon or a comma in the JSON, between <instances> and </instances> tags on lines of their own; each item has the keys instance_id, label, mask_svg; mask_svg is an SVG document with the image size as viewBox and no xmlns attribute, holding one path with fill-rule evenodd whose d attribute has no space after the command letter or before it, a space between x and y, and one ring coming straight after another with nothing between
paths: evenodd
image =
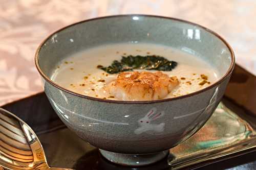
<instances>
[{"instance_id":1,"label":"pale pink patterned tablecloth behind the bowl and tray","mask_svg":"<svg viewBox=\"0 0 256 170\"><path fill-rule=\"evenodd\" d=\"M236 62L256 75L255 11L254 0L1 0L0 105L42 90L34 54L47 35L106 15L153 14L199 23L222 35Z\"/></svg>"}]
</instances>

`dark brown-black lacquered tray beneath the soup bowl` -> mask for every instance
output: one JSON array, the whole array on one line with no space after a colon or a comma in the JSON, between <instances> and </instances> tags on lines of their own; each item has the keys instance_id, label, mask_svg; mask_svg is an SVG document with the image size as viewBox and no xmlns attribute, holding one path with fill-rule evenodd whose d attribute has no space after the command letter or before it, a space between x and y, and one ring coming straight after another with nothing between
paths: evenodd
<instances>
[{"instance_id":1,"label":"dark brown-black lacquered tray beneath the soup bowl","mask_svg":"<svg viewBox=\"0 0 256 170\"><path fill-rule=\"evenodd\" d=\"M222 100L225 106L256 129L256 77L236 65ZM13 112L35 131L50 166L74 169L170 169L167 158L153 165L125 167L105 160L87 142L72 133L58 118L44 92L18 100L3 108ZM256 169L255 148L200 162L182 169Z\"/></svg>"}]
</instances>

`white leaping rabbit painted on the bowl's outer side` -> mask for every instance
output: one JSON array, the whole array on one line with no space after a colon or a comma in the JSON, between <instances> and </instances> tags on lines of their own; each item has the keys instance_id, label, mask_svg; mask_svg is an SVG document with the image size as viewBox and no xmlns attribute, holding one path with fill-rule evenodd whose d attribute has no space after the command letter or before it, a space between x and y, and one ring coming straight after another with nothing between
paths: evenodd
<instances>
[{"instance_id":1,"label":"white leaping rabbit painted on the bowl's outer side","mask_svg":"<svg viewBox=\"0 0 256 170\"><path fill-rule=\"evenodd\" d=\"M134 131L135 134L141 134L146 131L153 131L153 132L162 132L164 130L164 123L160 124L151 124L151 122L159 117L164 115L164 112L161 111L159 113L156 112L156 108L152 108L150 112L148 112L145 117L138 120L139 128Z\"/></svg>"}]
</instances>

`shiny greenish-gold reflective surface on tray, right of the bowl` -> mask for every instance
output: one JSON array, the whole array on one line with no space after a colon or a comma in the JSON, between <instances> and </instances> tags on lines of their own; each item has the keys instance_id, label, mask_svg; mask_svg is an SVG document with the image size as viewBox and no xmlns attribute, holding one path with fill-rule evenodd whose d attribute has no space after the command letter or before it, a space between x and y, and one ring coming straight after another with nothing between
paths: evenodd
<instances>
[{"instance_id":1,"label":"shiny greenish-gold reflective surface on tray, right of the bowl","mask_svg":"<svg viewBox=\"0 0 256 170\"><path fill-rule=\"evenodd\" d=\"M179 169L256 147L255 134L245 120L220 103L202 129L170 149L168 163Z\"/></svg>"}]
</instances>

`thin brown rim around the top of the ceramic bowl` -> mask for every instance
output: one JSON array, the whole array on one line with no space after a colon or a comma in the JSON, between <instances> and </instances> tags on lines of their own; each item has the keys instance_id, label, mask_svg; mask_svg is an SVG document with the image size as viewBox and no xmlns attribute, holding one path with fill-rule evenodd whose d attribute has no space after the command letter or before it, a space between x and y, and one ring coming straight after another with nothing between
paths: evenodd
<instances>
[{"instance_id":1,"label":"thin brown rim around the top of the ceramic bowl","mask_svg":"<svg viewBox=\"0 0 256 170\"><path fill-rule=\"evenodd\" d=\"M105 19L105 18L115 18L115 17L134 17L134 16L139 16L139 17L153 17L153 18L158 18L158 19L169 19L169 20L175 20L175 21L179 21L179 22L183 22L183 23L187 23L189 25L192 25L192 26L196 26L196 27L199 27L203 30L205 30L206 32L216 36L217 38L219 38L228 48L230 54L231 54L231 64L226 72L226 74L224 76L222 76L218 81L216 81L215 83L209 85L208 87L205 87L201 90L197 90L195 92L192 92L192 93L189 93L189 94L185 94L185 95L181 95L181 96L177 96L177 97L174 97L174 98L168 98L168 99L161 99L161 100L152 100L152 101L119 101L119 100L108 100L108 99L100 99L100 98L94 98L92 96L87 96L87 95L83 95L83 94L79 94L79 93L76 93L76 92L73 92L67 88L64 88L60 85L58 85L57 83L55 83L54 81L52 81L48 76L46 76L46 74L44 73L44 71L41 70L40 66L39 66L39 52L41 50L41 47L45 44L45 42L47 40L49 40L54 34L62 31L62 30L65 30L69 27L72 27L72 26L75 26L75 25L78 25L80 23L83 23L83 22L88 22L88 21L92 21L92 20L100 20L100 19ZM190 21L187 21L187 20L183 20L183 19L178 19L178 18L173 18L173 17L166 17L166 16L159 16L159 15L144 15L144 14L124 14L124 15L109 15L109 16L102 16L102 17L96 17L96 18L91 18L91 19L86 19L86 20L81 20L81 21L78 21L78 22L75 22L75 23L72 23L71 25L68 25L66 27L63 27L61 29L58 29L57 31L51 33L49 36L47 36L40 44L39 46L37 47L37 50L36 50L36 53L35 53L35 65L36 65L36 68L39 72L39 74L42 76L42 78L44 78L48 83L50 83L51 85L53 85L54 87L62 90L62 91L65 91L67 93L70 93L70 94L73 94L75 96L79 96L81 98L85 98L85 99L88 99L88 100L93 100L93 101L98 101L98 102L107 102L107 103L117 103L117 104L151 104L151 103L160 103L160 102L168 102L168 101L175 101L175 100L179 100L179 99L184 99L184 98L188 98L190 96L193 96L195 94L199 94L199 93L202 93L204 91L207 91L211 88L214 88L215 86L219 85L220 83L222 83L231 73L232 73L232 70L234 69L234 65L235 65L235 61L234 61L234 52L232 50L232 47L229 45L229 43L224 39L222 38L219 34L217 34L216 32L210 30L210 29L207 29L206 27L204 26L201 26L197 23L194 23L194 22L190 22Z\"/></svg>"}]
</instances>

